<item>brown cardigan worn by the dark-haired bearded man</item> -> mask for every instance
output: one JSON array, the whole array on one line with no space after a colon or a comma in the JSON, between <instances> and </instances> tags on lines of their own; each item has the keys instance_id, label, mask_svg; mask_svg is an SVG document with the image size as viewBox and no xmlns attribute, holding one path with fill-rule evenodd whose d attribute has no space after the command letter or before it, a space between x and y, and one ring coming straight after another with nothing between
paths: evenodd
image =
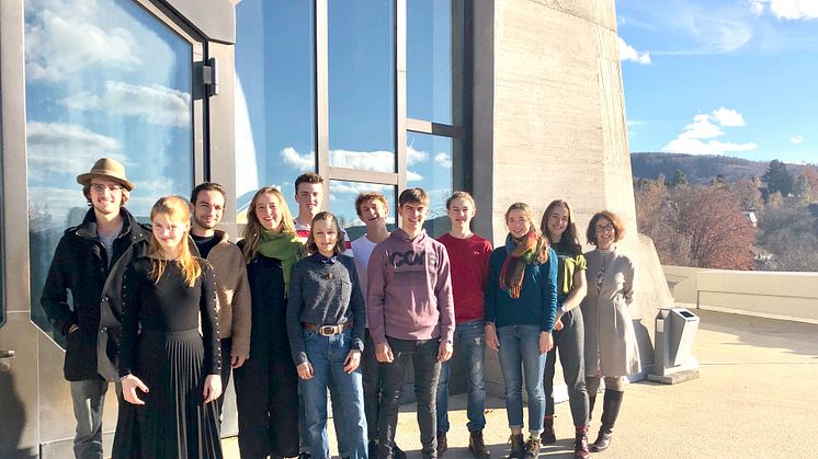
<instances>
[{"instance_id":1,"label":"brown cardigan worn by the dark-haired bearded man","mask_svg":"<svg viewBox=\"0 0 818 459\"><path fill-rule=\"evenodd\" d=\"M232 336L230 356L250 356L250 285L247 264L238 245L229 241L225 231L216 230L219 243L211 249L207 262L216 273L216 309L218 335ZM194 244L195 245L195 244Z\"/></svg>"}]
</instances>

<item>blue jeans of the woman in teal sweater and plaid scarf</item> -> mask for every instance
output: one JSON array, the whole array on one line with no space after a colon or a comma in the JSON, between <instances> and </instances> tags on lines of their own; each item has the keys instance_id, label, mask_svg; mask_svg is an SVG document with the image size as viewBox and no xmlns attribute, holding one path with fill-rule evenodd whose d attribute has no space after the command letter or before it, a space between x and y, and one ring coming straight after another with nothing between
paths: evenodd
<instances>
[{"instance_id":1,"label":"blue jeans of the woman in teal sweater and plaid scarf","mask_svg":"<svg viewBox=\"0 0 818 459\"><path fill-rule=\"evenodd\" d=\"M523 426L523 379L529 393L529 432L543 432L545 394L543 369L546 354L539 354L539 325L509 325L497 329L500 369L505 382L505 413L509 427ZM522 371L521 371L522 365Z\"/></svg>"}]
</instances>

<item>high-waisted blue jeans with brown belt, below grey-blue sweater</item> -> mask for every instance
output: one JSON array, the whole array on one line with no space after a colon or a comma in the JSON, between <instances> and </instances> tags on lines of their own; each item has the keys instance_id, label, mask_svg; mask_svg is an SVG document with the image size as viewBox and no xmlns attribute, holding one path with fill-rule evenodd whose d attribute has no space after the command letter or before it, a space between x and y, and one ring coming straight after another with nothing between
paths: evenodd
<instances>
[{"instance_id":1,"label":"high-waisted blue jeans with brown belt, below grey-blue sweater","mask_svg":"<svg viewBox=\"0 0 818 459\"><path fill-rule=\"evenodd\" d=\"M366 416L364 415L364 392L361 383L361 369L348 374L343 362L352 345L352 330L332 336L321 336L304 330L304 347L313 365L313 378L302 380L304 393L304 412L307 422L313 458L329 458L329 439L327 437L327 389L330 389L332 404L342 405L343 420L336 423L341 426L339 438L344 438L351 458L366 459Z\"/></svg>"}]
</instances>

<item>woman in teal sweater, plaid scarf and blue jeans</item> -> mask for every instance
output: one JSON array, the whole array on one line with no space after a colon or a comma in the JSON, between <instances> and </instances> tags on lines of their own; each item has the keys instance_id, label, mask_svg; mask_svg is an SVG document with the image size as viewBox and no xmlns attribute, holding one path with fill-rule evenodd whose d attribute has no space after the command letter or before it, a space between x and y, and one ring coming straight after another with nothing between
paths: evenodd
<instances>
[{"instance_id":1,"label":"woman in teal sweater, plaid scarf and blue jeans","mask_svg":"<svg viewBox=\"0 0 818 459\"><path fill-rule=\"evenodd\" d=\"M529 205L512 204L505 211L505 245L495 249L489 262L486 344L500 356L511 429L509 458L536 458L545 415L545 356L554 346L557 255L534 223ZM523 379L529 393L530 433L524 443Z\"/></svg>"}]
</instances>

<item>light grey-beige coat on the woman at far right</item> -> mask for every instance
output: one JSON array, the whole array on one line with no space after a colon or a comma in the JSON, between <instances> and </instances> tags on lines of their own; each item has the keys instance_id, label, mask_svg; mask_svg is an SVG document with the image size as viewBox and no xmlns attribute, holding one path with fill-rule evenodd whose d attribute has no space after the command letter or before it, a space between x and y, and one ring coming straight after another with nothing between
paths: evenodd
<instances>
[{"instance_id":1,"label":"light grey-beige coat on the woman at far right","mask_svg":"<svg viewBox=\"0 0 818 459\"><path fill-rule=\"evenodd\" d=\"M598 250L584 255L588 295L581 308L586 324L586 374L617 377L639 372L639 348L628 312L636 265L618 249L607 255ZM599 289L597 277L605 260L605 276Z\"/></svg>"}]
</instances>

